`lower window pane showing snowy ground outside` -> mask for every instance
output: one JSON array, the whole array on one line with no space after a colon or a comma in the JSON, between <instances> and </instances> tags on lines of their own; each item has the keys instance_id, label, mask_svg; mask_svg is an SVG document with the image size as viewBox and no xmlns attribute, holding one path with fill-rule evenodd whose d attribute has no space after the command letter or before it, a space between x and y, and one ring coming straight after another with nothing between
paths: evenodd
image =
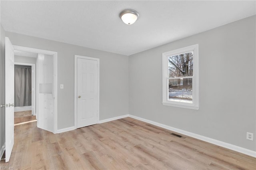
<instances>
[{"instance_id":1,"label":"lower window pane showing snowy ground outside","mask_svg":"<svg viewBox=\"0 0 256 170\"><path fill-rule=\"evenodd\" d=\"M192 78L169 79L169 101L192 103Z\"/></svg>"}]
</instances>

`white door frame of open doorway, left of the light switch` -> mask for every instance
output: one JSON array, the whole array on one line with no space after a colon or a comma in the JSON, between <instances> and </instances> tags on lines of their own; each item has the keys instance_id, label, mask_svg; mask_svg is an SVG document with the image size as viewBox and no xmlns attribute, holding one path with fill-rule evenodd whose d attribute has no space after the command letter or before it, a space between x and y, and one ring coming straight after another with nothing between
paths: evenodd
<instances>
[{"instance_id":1,"label":"white door frame of open doorway, left of the light switch","mask_svg":"<svg viewBox=\"0 0 256 170\"><path fill-rule=\"evenodd\" d=\"M57 90L58 90L58 84L57 84L57 52L56 51L48 51L44 49L37 49L37 48L30 48L30 47L23 47L19 45L13 45L14 50L18 51L26 51L26 52L32 52L32 53L41 53L41 54L48 54L53 55L53 62L54 62L54 134L57 133L57 125L58 125L58 109L57 109ZM38 89L37 89L38 92ZM38 94L37 94L38 95ZM38 106L36 106L38 108Z\"/></svg>"}]
</instances>

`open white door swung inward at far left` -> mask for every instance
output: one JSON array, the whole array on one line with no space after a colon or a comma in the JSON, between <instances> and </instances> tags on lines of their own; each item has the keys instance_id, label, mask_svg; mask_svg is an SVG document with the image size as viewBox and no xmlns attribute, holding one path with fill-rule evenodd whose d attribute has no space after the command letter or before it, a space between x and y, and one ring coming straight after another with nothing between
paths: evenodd
<instances>
[{"instance_id":1,"label":"open white door swung inward at far left","mask_svg":"<svg viewBox=\"0 0 256 170\"><path fill-rule=\"evenodd\" d=\"M9 162L14 144L14 48L5 38L5 162Z\"/></svg>"}]
</instances>

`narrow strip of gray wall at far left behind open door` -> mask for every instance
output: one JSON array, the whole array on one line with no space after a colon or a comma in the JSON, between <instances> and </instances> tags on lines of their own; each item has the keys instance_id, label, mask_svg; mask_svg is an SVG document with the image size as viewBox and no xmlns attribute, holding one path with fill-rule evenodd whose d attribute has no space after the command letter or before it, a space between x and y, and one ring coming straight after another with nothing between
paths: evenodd
<instances>
[{"instance_id":1,"label":"narrow strip of gray wall at far left behind open door","mask_svg":"<svg viewBox=\"0 0 256 170\"><path fill-rule=\"evenodd\" d=\"M0 26L0 104L5 103L4 95L4 44L5 31L2 25ZM0 108L0 150L5 142L5 114L4 107Z\"/></svg>"}]
</instances>

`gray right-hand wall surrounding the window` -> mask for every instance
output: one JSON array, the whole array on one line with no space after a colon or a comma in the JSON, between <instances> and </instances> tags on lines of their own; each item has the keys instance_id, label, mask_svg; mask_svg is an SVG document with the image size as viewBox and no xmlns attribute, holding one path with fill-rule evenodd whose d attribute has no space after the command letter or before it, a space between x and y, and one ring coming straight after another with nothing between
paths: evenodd
<instances>
[{"instance_id":1,"label":"gray right-hand wall surrounding the window","mask_svg":"<svg viewBox=\"0 0 256 170\"><path fill-rule=\"evenodd\" d=\"M250 150L256 135L252 16L129 57L131 115ZM162 53L199 44L199 110L162 105Z\"/></svg>"}]
</instances>

